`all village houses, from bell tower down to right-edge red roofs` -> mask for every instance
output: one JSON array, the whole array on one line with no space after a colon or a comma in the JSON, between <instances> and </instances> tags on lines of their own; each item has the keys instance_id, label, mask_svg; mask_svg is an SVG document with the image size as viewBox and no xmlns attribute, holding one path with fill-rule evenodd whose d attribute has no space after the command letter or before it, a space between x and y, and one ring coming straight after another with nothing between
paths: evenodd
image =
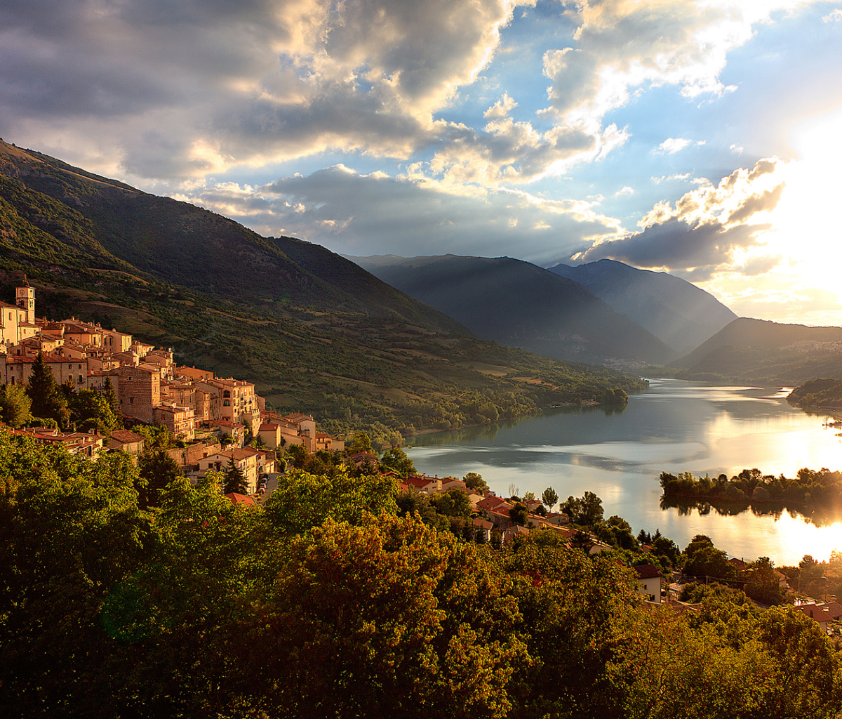
<instances>
[{"instance_id":1,"label":"all village houses, from bell tower down to right-edge red roofs","mask_svg":"<svg viewBox=\"0 0 842 719\"><path fill-rule=\"evenodd\" d=\"M35 289L24 282L15 289L14 304L0 302L0 384L25 386L35 362L43 362L49 368L57 385L70 386L76 392L113 391L125 427L165 427L179 445L168 448L168 456L188 480L195 483L209 470L225 472L236 468L242 475L243 493L226 494L234 504L249 507L265 502L279 486L287 461L312 469L314 465L307 463L310 458L322 469L344 463L360 475L391 478L402 497L398 501L400 507L409 512L424 508L424 504L433 507L440 515L440 523L449 522L455 534L472 541L499 546L538 530L550 530L554 541L592 556L623 545L611 538L606 540L600 532L589 531L589 523L577 529L571 526L567 513L549 511L557 499L554 492L550 501L546 497L541 501L531 493L523 499L514 495L504 498L488 489L479 475L459 480L420 474L397 448L378 458L370 444L357 446L358 437L345 451L344 439L318 432L312 416L281 416L267 410L264 398L256 393L252 383L179 366L172 351L115 329L75 317L56 321L37 318ZM71 453L89 459L96 459L104 449L120 449L139 456L146 443L146 437L125 428L115 429L108 436L62 432L51 427L26 427L15 433L28 435L39 444L61 444ZM396 457L397 462L393 461ZM595 496L592 499L600 502ZM569 497L568 504L572 500ZM576 523L581 527L579 520ZM637 573L639 593L652 604L663 602L682 611L695 609L694 604L678 601L680 588L674 582L681 572L673 576L672 571L662 571L665 565L657 559L658 541L656 536L656 546L647 541L640 541L637 546L632 570ZM672 545L669 540L660 541ZM655 563L647 563L647 556ZM728 563L735 576L755 571L737 559ZM780 584L782 595L788 589L787 577L781 571L773 572L769 581ZM829 622L842 617L842 605L835 602L798 602L797 609L817 621L823 630L828 629Z\"/></svg>"}]
</instances>

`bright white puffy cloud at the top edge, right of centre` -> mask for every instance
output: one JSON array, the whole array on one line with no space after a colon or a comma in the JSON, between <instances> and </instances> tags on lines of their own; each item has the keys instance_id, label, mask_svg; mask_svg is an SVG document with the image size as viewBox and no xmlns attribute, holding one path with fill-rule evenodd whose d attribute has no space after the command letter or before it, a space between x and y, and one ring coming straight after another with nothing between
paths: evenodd
<instances>
[{"instance_id":1,"label":"bright white puffy cloud at the top edge, right of centre","mask_svg":"<svg viewBox=\"0 0 842 719\"><path fill-rule=\"evenodd\" d=\"M632 89L675 85L688 98L733 91L719 79L728 51L752 36L771 13L803 4L670 3L605 0L576 3L574 45L546 51L551 110L594 131Z\"/></svg>"}]
</instances>

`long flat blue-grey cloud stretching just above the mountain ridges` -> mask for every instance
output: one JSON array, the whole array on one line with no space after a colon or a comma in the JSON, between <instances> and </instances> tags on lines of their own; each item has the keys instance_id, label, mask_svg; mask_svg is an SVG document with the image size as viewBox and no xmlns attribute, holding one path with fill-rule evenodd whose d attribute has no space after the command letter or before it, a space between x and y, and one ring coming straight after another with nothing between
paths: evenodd
<instances>
[{"instance_id":1,"label":"long flat blue-grey cloud stretching just above the mountain ridges","mask_svg":"<svg viewBox=\"0 0 842 719\"><path fill-rule=\"evenodd\" d=\"M180 199L267 235L291 235L349 255L517 255L544 262L606 233L616 220L584 201L547 201L520 190L462 188L407 176L359 174L344 165L261 188L207 185Z\"/></svg>"}]
</instances>

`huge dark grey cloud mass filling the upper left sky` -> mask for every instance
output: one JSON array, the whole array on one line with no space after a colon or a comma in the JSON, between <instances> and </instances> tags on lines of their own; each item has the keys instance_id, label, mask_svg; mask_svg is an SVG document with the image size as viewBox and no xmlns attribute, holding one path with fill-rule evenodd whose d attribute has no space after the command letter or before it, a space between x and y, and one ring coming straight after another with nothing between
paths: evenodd
<instances>
[{"instance_id":1,"label":"huge dark grey cloud mass filling the upper left sky","mask_svg":"<svg viewBox=\"0 0 842 719\"><path fill-rule=\"evenodd\" d=\"M328 150L407 158L533 3L9 0L0 126L63 135L80 162L95 136L145 178Z\"/></svg>"}]
</instances>

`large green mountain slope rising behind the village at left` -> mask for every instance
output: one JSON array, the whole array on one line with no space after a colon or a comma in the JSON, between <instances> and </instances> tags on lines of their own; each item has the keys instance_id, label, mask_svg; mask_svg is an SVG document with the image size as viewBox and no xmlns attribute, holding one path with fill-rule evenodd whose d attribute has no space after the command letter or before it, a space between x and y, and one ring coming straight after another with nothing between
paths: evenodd
<instances>
[{"instance_id":1,"label":"large green mountain slope rising behind the village at left","mask_svg":"<svg viewBox=\"0 0 842 719\"><path fill-rule=\"evenodd\" d=\"M0 142L0 301L24 272L39 316L171 346L280 410L381 442L642 387L478 340L318 245Z\"/></svg>"}]
</instances>

